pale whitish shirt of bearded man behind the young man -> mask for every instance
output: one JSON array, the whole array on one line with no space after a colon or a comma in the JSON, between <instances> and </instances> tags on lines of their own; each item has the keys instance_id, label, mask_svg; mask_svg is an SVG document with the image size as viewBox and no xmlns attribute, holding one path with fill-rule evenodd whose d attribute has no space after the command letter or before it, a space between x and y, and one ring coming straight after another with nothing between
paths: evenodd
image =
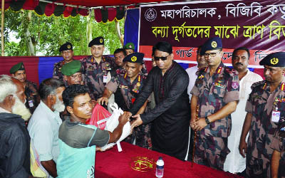
<instances>
[{"instance_id":1,"label":"pale whitish shirt of bearded man behind the young man","mask_svg":"<svg viewBox=\"0 0 285 178\"><path fill-rule=\"evenodd\" d=\"M28 133L38 152L40 161L53 159L59 155L58 130L62 120L59 112L52 111L41 101L28 122Z\"/></svg>"}]
</instances>

